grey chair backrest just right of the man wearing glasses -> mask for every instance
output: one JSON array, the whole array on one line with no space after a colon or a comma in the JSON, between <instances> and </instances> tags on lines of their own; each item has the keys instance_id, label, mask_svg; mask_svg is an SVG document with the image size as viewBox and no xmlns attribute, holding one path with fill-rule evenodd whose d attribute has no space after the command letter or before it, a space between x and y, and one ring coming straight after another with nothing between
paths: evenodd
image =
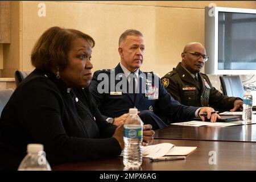
<instances>
[{"instance_id":1,"label":"grey chair backrest just right of the man wearing glasses","mask_svg":"<svg viewBox=\"0 0 256 182\"><path fill-rule=\"evenodd\" d=\"M239 75L220 76L221 90L225 96L243 98L244 90Z\"/></svg>"}]
</instances>

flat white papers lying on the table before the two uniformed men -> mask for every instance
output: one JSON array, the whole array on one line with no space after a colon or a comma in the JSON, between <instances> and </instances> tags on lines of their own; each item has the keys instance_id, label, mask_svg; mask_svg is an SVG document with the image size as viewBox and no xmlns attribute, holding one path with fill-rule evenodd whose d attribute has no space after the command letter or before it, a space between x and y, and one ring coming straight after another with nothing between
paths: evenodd
<instances>
[{"instance_id":1,"label":"flat white papers lying on the table before the two uniformed men","mask_svg":"<svg viewBox=\"0 0 256 182\"><path fill-rule=\"evenodd\" d=\"M171 125L226 127L226 126L242 125L242 121L214 122L214 123L212 123L212 122L205 122L205 121L188 121L188 122L180 122L180 123L171 123Z\"/></svg>"}]
</instances>

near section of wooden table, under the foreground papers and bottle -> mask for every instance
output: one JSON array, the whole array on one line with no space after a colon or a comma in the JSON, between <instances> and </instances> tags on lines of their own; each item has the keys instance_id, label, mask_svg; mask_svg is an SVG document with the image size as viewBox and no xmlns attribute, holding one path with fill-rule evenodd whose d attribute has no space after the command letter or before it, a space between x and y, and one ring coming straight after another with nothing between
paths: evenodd
<instances>
[{"instance_id":1,"label":"near section of wooden table, under the foreground papers and bottle","mask_svg":"<svg viewBox=\"0 0 256 182\"><path fill-rule=\"evenodd\" d=\"M218 142L204 140L168 140L155 139L153 144L172 143L176 146L197 146L185 160L169 160L150 162L143 158L141 170L171 171L171 170L256 170L256 143L250 142ZM214 151L216 163L212 163L209 155ZM210 160L210 163L209 163ZM52 168L53 170L76 171L123 171L122 157L113 157L88 162L66 163Z\"/></svg>"}]
</instances>

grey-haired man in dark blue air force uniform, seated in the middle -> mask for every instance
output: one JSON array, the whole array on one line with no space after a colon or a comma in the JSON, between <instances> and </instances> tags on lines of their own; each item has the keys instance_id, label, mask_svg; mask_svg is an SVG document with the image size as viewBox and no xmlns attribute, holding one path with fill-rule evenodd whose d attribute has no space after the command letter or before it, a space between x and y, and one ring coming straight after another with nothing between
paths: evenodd
<instances>
[{"instance_id":1,"label":"grey-haired man in dark blue air force uniform, seated in the middle","mask_svg":"<svg viewBox=\"0 0 256 182\"><path fill-rule=\"evenodd\" d=\"M155 110L171 121L188 121L201 113L215 122L217 114L211 107L181 105L164 89L160 78L152 72L142 72L144 38L137 30L126 30L119 38L120 63L114 69L94 72L90 92L106 121L121 125L129 108L136 107L142 121L153 129L166 127ZM204 117L202 117L204 120Z\"/></svg>"}]
</instances>

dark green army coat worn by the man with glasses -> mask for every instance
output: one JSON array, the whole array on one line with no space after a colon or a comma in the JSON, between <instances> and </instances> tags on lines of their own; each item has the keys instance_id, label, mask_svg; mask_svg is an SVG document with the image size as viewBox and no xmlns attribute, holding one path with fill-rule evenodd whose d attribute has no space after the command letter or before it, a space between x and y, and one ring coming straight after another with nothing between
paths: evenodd
<instances>
[{"instance_id":1,"label":"dark green army coat worn by the man with glasses","mask_svg":"<svg viewBox=\"0 0 256 182\"><path fill-rule=\"evenodd\" d=\"M171 96L183 105L210 106L222 111L233 109L234 100L240 98L224 96L212 86L206 74L198 75L199 83L179 63L161 80Z\"/></svg>"}]
</instances>

